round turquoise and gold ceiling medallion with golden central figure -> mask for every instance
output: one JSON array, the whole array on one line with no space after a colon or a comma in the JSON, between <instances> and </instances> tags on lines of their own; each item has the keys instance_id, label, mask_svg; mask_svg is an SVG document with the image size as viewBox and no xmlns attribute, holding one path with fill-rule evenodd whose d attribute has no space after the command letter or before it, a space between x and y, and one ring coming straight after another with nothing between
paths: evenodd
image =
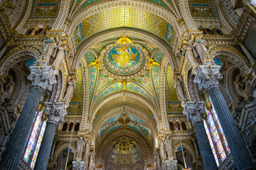
<instances>
[{"instance_id":1,"label":"round turquoise and gold ceiling medallion with golden central figure","mask_svg":"<svg viewBox=\"0 0 256 170\"><path fill-rule=\"evenodd\" d=\"M135 79L149 69L149 57L125 35L105 50L100 63L103 74L117 81Z\"/></svg>"}]
</instances>

